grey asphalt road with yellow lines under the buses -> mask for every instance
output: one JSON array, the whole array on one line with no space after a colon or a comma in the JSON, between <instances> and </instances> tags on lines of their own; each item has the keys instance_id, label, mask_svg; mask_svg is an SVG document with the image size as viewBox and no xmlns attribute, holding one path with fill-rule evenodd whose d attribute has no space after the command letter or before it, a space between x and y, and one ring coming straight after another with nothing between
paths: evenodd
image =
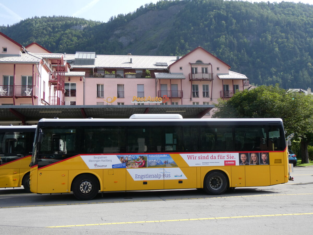
<instances>
[{"instance_id":1,"label":"grey asphalt road with yellow lines under the buses","mask_svg":"<svg viewBox=\"0 0 313 235\"><path fill-rule=\"evenodd\" d=\"M72 194L0 190L0 234L312 234L313 167L295 167L295 181L202 190Z\"/></svg>"}]
</instances>

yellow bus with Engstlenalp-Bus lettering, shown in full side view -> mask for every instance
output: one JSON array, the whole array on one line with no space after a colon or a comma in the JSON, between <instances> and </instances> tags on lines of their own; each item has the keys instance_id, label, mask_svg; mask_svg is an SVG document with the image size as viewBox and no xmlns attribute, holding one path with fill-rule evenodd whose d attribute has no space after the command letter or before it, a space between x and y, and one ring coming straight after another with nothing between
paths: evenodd
<instances>
[{"instance_id":1,"label":"yellow bus with Engstlenalp-Bus lettering, shown in full side view","mask_svg":"<svg viewBox=\"0 0 313 235\"><path fill-rule=\"evenodd\" d=\"M289 178L290 177L290 178ZM291 180L281 119L41 119L31 161L33 193L229 188Z\"/></svg>"}]
</instances>

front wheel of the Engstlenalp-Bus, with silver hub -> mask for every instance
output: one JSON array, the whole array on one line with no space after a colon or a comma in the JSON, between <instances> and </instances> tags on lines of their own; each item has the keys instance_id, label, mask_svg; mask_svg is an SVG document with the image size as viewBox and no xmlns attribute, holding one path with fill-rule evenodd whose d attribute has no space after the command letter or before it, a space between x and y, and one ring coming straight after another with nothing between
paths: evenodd
<instances>
[{"instance_id":1,"label":"front wheel of the Engstlenalp-Bus, with silver hub","mask_svg":"<svg viewBox=\"0 0 313 235\"><path fill-rule=\"evenodd\" d=\"M99 181L94 175L79 175L73 181L72 191L78 200L91 200L99 192Z\"/></svg>"}]
</instances>

